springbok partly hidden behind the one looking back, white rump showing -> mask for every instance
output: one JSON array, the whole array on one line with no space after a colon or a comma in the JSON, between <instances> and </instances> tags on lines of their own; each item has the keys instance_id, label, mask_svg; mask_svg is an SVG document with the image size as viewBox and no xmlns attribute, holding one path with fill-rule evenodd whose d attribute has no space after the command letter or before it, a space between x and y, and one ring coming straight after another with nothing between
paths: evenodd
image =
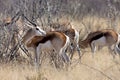
<instances>
[{"instance_id":1,"label":"springbok partly hidden behind the one looking back, white rump showing","mask_svg":"<svg viewBox=\"0 0 120 80\"><path fill-rule=\"evenodd\" d=\"M80 48L79 48L79 32L76 29L74 29L69 22L67 22L67 23L51 23L50 27L51 27L52 31L62 32L70 38L70 42L71 42L70 59L73 58L75 49L78 52L79 58L81 58Z\"/></svg>"}]
</instances>

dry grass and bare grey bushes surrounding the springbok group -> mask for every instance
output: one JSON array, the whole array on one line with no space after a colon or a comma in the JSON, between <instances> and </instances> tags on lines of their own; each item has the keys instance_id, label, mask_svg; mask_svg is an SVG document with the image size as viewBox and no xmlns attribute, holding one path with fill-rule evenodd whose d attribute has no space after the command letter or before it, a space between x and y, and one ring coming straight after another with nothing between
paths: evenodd
<instances>
[{"instance_id":1,"label":"dry grass and bare grey bushes surrounding the springbok group","mask_svg":"<svg viewBox=\"0 0 120 80\"><path fill-rule=\"evenodd\" d=\"M0 80L120 80L120 58L106 48L94 58L89 48L82 50L81 63L76 54L67 70L44 60L37 73L21 45L25 17L45 30L49 23L68 21L82 30L80 40L99 29L119 32L119 5L119 0L0 0Z\"/></svg>"}]
</instances>

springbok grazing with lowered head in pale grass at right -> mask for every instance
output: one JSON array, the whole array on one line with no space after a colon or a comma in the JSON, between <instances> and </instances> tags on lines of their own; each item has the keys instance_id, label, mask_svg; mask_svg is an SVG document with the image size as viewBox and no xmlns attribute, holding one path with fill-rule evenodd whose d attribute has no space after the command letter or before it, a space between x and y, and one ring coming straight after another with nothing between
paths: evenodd
<instances>
[{"instance_id":1,"label":"springbok grazing with lowered head in pale grass at right","mask_svg":"<svg viewBox=\"0 0 120 80\"><path fill-rule=\"evenodd\" d=\"M81 48L90 46L93 56L96 51L96 47L100 50L102 47L107 46L109 51L112 51L112 47L118 42L119 35L113 29L103 29L88 34L87 38L80 42ZM114 57L114 56L113 56Z\"/></svg>"}]
</instances>

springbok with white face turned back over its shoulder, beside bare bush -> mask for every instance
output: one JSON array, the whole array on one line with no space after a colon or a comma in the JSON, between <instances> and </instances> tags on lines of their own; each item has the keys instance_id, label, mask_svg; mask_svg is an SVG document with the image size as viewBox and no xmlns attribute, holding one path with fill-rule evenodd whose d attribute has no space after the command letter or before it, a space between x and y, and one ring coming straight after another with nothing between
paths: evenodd
<instances>
[{"instance_id":1,"label":"springbok with white face turned back over its shoulder, beside bare bush","mask_svg":"<svg viewBox=\"0 0 120 80\"><path fill-rule=\"evenodd\" d=\"M39 28L31 28L23 37L23 43L26 43L27 48L34 49L35 66L37 68L39 67L39 56L42 50L54 49L66 63L70 61L66 54L66 49L70 44L70 40L68 36L61 32L44 32L43 30L41 31L41 29L39 30Z\"/></svg>"}]
</instances>

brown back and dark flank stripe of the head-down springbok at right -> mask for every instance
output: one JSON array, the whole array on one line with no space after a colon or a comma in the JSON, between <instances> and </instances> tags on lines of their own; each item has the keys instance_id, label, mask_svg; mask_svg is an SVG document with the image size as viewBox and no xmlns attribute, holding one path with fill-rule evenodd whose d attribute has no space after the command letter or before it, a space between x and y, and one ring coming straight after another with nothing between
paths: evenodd
<instances>
[{"instance_id":1,"label":"brown back and dark flank stripe of the head-down springbok at right","mask_svg":"<svg viewBox=\"0 0 120 80\"><path fill-rule=\"evenodd\" d=\"M105 36L107 41L110 41L110 37L117 42L118 34L113 29L103 29L88 34L87 38L80 42L81 48L86 48L91 44L93 40L97 40ZM113 42L114 43L114 42Z\"/></svg>"}]
</instances>

